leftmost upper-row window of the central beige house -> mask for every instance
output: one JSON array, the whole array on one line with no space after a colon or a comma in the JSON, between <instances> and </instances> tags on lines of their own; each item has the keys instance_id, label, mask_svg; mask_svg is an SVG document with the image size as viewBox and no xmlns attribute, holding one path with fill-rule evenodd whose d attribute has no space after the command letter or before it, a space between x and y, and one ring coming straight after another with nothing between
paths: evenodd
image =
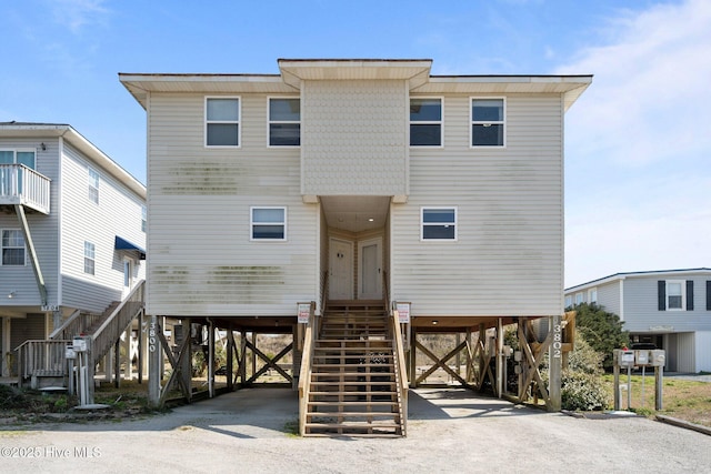
<instances>
[{"instance_id":1,"label":"leftmost upper-row window of the central beige house","mask_svg":"<svg viewBox=\"0 0 711 474\"><path fill-rule=\"evenodd\" d=\"M240 145L240 99L206 98L206 147Z\"/></svg>"}]
</instances>

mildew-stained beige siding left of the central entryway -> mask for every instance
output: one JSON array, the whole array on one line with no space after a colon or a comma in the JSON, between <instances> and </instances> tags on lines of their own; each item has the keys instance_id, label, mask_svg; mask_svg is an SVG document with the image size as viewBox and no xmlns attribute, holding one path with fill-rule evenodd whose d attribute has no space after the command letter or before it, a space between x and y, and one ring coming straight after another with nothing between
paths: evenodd
<instances>
[{"instance_id":1,"label":"mildew-stained beige siding left of the central entryway","mask_svg":"<svg viewBox=\"0 0 711 474\"><path fill-rule=\"evenodd\" d=\"M148 313L292 315L317 299L320 211L300 150L267 147L267 97L241 95L240 148L209 149L204 95L151 95ZM287 241L250 241L250 206L287 208Z\"/></svg>"}]
</instances>

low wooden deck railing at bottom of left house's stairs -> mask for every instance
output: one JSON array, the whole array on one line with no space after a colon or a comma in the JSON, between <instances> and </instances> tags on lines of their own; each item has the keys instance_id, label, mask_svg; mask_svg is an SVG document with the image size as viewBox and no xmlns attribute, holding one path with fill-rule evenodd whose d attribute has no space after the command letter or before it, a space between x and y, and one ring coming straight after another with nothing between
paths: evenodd
<instances>
[{"instance_id":1,"label":"low wooden deck railing at bottom of left house's stairs","mask_svg":"<svg viewBox=\"0 0 711 474\"><path fill-rule=\"evenodd\" d=\"M24 341L18 349L20 384L32 375L66 376L64 350L71 341Z\"/></svg>"}]
</instances>

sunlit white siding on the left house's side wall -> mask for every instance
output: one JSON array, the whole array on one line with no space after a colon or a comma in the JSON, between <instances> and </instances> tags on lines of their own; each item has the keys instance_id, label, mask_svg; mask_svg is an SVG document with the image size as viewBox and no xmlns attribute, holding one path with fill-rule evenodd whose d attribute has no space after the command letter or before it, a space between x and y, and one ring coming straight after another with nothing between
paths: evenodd
<instances>
[{"instance_id":1,"label":"sunlit white siding on the left house's side wall","mask_svg":"<svg viewBox=\"0 0 711 474\"><path fill-rule=\"evenodd\" d=\"M88 198L89 168L99 173L99 204ZM121 299L123 255L136 259L134 279L144 278L146 263L136 252L117 251L117 235L146 248L141 231L142 200L113 177L64 143L62 157L62 302L101 312ZM96 245L94 274L84 273L84 241Z\"/></svg>"}]
</instances>

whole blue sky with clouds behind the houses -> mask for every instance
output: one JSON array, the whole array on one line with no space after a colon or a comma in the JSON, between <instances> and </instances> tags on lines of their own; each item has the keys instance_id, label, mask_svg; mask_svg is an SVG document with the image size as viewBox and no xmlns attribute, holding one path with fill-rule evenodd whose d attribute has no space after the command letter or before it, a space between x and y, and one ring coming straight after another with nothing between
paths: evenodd
<instances>
[{"instance_id":1,"label":"whole blue sky with clouds behind the houses","mask_svg":"<svg viewBox=\"0 0 711 474\"><path fill-rule=\"evenodd\" d=\"M565 285L711 266L707 0L0 0L0 121L69 123L143 182L146 113L119 72L594 74L565 119Z\"/></svg>"}]
</instances>

